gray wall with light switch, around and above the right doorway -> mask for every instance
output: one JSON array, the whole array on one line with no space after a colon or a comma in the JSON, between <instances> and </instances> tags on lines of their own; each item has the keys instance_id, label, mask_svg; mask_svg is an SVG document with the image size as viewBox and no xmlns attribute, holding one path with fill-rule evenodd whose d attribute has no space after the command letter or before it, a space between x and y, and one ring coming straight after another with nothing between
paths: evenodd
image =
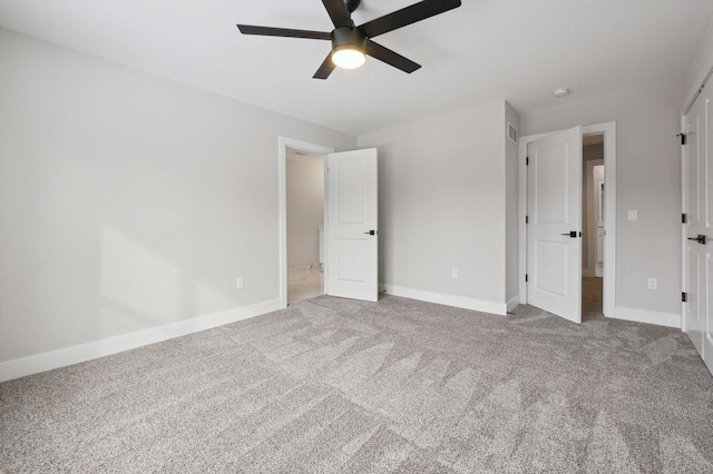
<instances>
[{"instance_id":1,"label":"gray wall with light switch, around and above the right doorway","mask_svg":"<svg viewBox=\"0 0 713 474\"><path fill-rule=\"evenodd\" d=\"M520 117L521 135L616 121L616 305L681 313L681 85L638 87L592 99L576 92ZM638 210L628 221L627 210ZM646 288L646 278L658 289Z\"/></svg>"}]
</instances>

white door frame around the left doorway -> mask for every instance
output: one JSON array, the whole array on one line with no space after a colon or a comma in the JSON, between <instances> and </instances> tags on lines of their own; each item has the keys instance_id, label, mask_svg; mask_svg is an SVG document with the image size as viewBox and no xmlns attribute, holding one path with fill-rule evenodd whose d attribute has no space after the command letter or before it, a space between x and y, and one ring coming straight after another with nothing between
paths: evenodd
<instances>
[{"instance_id":1,"label":"white door frame around the left doorway","mask_svg":"<svg viewBox=\"0 0 713 474\"><path fill-rule=\"evenodd\" d=\"M277 203L280 207L280 307L287 307L287 148L314 155L329 155L334 148L324 145L311 144L290 137L277 137ZM326 170L326 159L324 160ZM325 172L326 176L326 172ZM326 218L326 179L324 180L324 216ZM324 226L324 241L328 238L328 229ZM324 268L326 268L326 251L324 253ZM324 278L324 292L326 293L326 278Z\"/></svg>"}]
</instances>

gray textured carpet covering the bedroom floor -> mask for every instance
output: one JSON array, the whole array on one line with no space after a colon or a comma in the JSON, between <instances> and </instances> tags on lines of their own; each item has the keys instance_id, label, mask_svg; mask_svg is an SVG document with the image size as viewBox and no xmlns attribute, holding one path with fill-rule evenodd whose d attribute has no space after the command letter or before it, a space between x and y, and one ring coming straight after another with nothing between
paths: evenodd
<instances>
[{"instance_id":1,"label":"gray textured carpet covering the bedroom floor","mask_svg":"<svg viewBox=\"0 0 713 474\"><path fill-rule=\"evenodd\" d=\"M14 472L711 473L676 329L328 296L0 384Z\"/></svg>"}]
</instances>

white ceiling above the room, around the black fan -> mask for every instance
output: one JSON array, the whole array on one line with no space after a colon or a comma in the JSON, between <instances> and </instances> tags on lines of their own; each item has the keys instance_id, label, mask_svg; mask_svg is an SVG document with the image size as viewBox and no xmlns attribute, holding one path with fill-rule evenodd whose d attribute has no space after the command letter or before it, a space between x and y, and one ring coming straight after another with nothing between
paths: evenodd
<instances>
[{"instance_id":1,"label":"white ceiling above the room, around the black fan","mask_svg":"<svg viewBox=\"0 0 713 474\"><path fill-rule=\"evenodd\" d=\"M362 0L352 18L414 2ZM680 81L712 16L711 0L463 0L375 39L422 65L412 75L369 58L323 81L329 41L235 27L331 31L320 0L0 0L3 28L353 135L496 99L524 113Z\"/></svg>"}]
</instances>

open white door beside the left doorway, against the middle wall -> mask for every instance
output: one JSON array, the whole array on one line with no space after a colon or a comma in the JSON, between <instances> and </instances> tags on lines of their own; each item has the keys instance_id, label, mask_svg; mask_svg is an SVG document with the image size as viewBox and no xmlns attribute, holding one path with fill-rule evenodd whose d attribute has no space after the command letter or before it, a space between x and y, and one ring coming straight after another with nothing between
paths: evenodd
<instances>
[{"instance_id":1,"label":"open white door beside the left doorway, against the middle wall","mask_svg":"<svg viewBox=\"0 0 713 474\"><path fill-rule=\"evenodd\" d=\"M379 298L377 149L328 156L326 294Z\"/></svg>"}]
</instances>

